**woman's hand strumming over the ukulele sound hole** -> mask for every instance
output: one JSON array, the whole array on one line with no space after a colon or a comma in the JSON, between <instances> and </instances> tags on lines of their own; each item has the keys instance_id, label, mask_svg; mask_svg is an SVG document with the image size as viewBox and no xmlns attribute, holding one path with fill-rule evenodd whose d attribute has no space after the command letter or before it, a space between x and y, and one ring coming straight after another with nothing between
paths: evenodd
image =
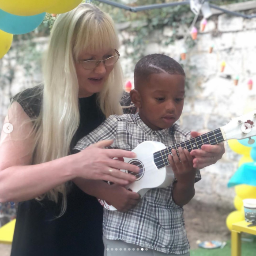
<instances>
[{"instance_id":1,"label":"woman's hand strumming over the ukulele sound hole","mask_svg":"<svg viewBox=\"0 0 256 256\"><path fill-rule=\"evenodd\" d=\"M70 155L76 176L90 180L110 181L121 185L135 181L136 176L124 173L119 169L139 173L139 167L113 158L135 158L136 154L121 149L104 149L112 143L113 140L103 140L90 145L77 154Z\"/></svg>"}]
</instances>

